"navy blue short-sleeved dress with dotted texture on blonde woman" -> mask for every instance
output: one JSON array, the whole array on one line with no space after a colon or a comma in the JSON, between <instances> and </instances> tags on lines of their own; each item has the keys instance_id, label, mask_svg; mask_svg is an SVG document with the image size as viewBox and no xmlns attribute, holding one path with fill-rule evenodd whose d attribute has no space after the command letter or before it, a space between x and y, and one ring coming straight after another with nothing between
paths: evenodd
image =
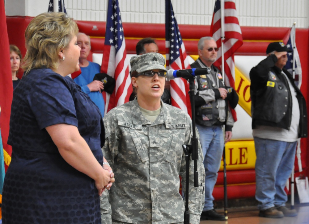
<instances>
[{"instance_id":1,"label":"navy blue short-sleeved dress with dotted texture on blonde woman","mask_svg":"<svg viewBox=\"0 0 309 224\"><path fill-rule=\"evenodd\" d=\"M103 164L99 108L70 77L48 68L31 70L13 94L8 139L12 159L2 193L3 223L101 223L94 180L61 157L45 129L60 123L78 127Z\"/></svg>"}]
</instances>

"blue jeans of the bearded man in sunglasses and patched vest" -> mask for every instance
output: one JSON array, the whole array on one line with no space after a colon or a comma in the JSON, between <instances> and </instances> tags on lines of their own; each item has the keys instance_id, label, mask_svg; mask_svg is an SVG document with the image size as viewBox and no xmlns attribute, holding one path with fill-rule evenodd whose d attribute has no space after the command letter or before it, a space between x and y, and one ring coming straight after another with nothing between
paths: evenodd
<instances>
[{"instance_id":1,"label":"blue jeans of the bearded man in sunglasses and patched vest","mask_svg":"<svg viewBox=\"0 0 309 224\"><path fill-rule=\"evenodd\" d=\"M204 155L205 167L205 204L203 211L214 209L212 196L217 182L224 147L223 130L221 126L205 127L196 125L200 134L200 142Z\"/></svg>"}]
</instances>

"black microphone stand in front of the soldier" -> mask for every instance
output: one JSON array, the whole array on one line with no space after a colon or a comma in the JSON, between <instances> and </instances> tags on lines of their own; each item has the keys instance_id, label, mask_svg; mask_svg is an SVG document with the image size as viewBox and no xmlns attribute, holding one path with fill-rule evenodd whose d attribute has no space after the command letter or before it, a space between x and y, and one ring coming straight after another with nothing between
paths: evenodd
<instances>
[{"instance_id":1,"label":"black microphone stand in front of the soldier","mask_svg":"<svg viewBox=\"0 0 309 224\"><path fill-rule=\"evenodd\" d=\"M191 145L182 145L184 154L186 156L186 195L185 195L185 211L184 211L184 224L189 224L190 214L189 214L189 161L190 154L192 153L192 160L194 161L194 187L198 187L198 171L197 171L197 160L198 160L198 140L195 131L195 106L194 106L194 77L191 75L186 78L190 84L190 101L191 101L191 111L192 111L192 138Z\"/></svg>"}]
</instances>

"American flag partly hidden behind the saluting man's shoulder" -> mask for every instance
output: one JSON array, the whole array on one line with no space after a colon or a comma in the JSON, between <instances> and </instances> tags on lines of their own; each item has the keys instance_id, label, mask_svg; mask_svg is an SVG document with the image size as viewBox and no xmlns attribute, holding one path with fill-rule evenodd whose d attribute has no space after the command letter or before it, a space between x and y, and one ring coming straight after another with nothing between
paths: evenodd
<instances>
[{"instance_id":1,"label":"American flag partly hidden behind the saluting man's shoulder","mask_svg":"<svg viewBox=\"0 0 309 224\"><path fill-rule=\"evenodd\" d=\"M293 74L293 62L295 64L295 85L300 89L300 86L302 85L302 66L300 64L300 59L298 55L298 51L296 48L296 42L295 42L295 24L293 24L291 31L290 31L290 38L286 44L286 46L292 51L288 53L288 60L286 62L286 65L284 66L291 74ZM294 54L294 60L293 60L293 54Z\"/></svg>"}]
</instances>

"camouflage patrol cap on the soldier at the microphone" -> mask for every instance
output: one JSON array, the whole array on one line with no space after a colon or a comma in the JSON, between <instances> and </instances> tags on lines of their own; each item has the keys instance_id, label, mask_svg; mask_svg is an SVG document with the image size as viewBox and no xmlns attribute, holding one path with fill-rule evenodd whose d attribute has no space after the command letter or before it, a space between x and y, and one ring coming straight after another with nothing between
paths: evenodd
<instances>
[{"instance_id":1,"label":"camouflage patrol cap on the soldier at the microphone","mask_svg":"<svg viewBox=\"0 0 309 224\"><path fill-rule=\"evenodd\" d=\"M165 58L162 54L151 52L142 55L133 56L130 60L132 72L143 73L146 71L160 69L167 72L165 65Z\"/></svg>"}]
</instances>

